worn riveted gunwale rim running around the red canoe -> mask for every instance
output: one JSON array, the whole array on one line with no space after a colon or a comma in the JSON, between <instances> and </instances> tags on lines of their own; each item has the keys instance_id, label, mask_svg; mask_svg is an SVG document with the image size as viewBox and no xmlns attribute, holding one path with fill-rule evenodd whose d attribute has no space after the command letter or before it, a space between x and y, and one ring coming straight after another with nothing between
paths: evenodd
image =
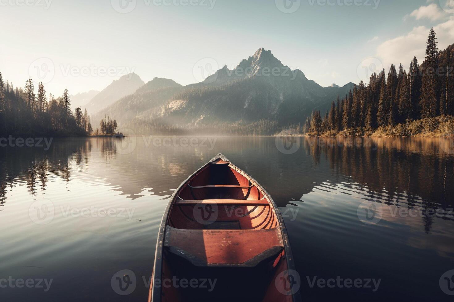
<instances>
[{"instance_id":1,"label":"worn riveted gunwale rim running around the red canoe","mask_svg":"<svg viewBox=\"0 0 454 302\"><path fill-rule=\"evenodd\" d=\"M282 219L281 212L278 211L279 208L276 206L276 203L274 200L271 198L271 195L266 191L264 187L262 187L261 184L259 184L253 177L248 175L246 172L235 166L232 162L230 162L222 153L218 153L215 157L213 157L208 163L204 164L201 168L196 170L194 173L192 173L188 178L186 178L179 186L178 188L173 192L172 196L170 197L170 200L164 210L163 213L163 218L161 220L161 225L159 226L159 232L158 232L158 239L156 243L156 250L155 250L155 258L154 258L154 265L153 265L153 274L152 274L152 282L150 283L150 292L149 292L149 301L161 301L161 292L162 292L162 287L157 287L155 288L154 285L154 278L155 276L159 276L159 278L162 276L162 264L163 264L163 249L164 249L164 242L165 242L165 236L166 236L166 227L168 224L168 219L169 219L169 213L170 209L172 206L175 204L175 200L178 197L178 193L188 185L189 181L197 176L197 174L201 173L204 168L207 168L210 164L215 162L216 160L221 159L222 161L226 162L225 164L228 164L232 169L243 175L244 177L247 177L249 181L252 183L252 185L256 186L259 190L262 191L264 197L266 200L270 203L271 210L273 211L274 215L277 217L277 220L279 222L278 226L281 230L281 236L282 236L282 241L283 241L283 249L285 250L285 259L286 259L286 264L287 264L287 269L288 270L296 270L295 266L295 261L293 259L293 254L291 252L291 247L290 247L290 240L288 238L287 234L287 229L284 223L284 220ZM180 198L181 199L181 198ZM280 247L282 249L282 247ZM266 250L264 253L271 253L272 249ZM263 253L262 253L263 254ZM263 255L262 255L263 256ZM196 261L195 259L192 259ZM251 261L250 264L254 263L254 258L250 259ZM253 266L253 265L252 265ZM301 295L300 292L296 292L293 295L291 295L292 301L297 302L301 301Z\"/></svg>"}]
</instances>

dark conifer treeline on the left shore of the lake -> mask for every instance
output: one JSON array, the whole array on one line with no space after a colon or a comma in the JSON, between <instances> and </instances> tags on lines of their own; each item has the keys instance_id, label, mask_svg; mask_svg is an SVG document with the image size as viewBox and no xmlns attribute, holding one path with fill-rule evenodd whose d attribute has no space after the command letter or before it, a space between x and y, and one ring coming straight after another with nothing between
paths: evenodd
<instances>
[{"instance_id":1,"label":"dark conifer treeline on the left shore of the lake","mask_svg":"<svg viewBox=\"0 0 454 302\"><path fill-rule=\"evenodd\" d=\"M0 135L84 136L93 129L90 116L80 107L71 112L68 90L57 98L46 96L43 83L29 78L24 88L3 80L0 72Z\"/></svg>"}]
</instances>

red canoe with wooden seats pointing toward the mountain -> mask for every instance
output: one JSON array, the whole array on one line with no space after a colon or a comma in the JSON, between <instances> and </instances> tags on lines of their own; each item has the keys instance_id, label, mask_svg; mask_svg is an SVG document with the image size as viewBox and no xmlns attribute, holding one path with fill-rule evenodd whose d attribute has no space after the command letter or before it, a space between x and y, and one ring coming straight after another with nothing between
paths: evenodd
<instances>
[{"instance_id":1,"label":"red canoe with wooden seats pointing toward the mountain","mask_svg":"<svg viewBox=\"0 0 454 302\"><path fill-rule=\"evenodd\" d=\"M279 209L224 155L174 191L148 301L301 301L299 283Z\"/></svg>"}]
</instances>

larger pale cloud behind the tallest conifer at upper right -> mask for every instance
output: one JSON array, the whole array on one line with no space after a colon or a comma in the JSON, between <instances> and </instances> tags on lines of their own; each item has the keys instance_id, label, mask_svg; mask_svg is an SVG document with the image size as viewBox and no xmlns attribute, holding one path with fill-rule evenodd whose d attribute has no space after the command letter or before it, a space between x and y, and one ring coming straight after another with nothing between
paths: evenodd
<instances>
[{"instance_id":1,"label":"larger pale cloud behind the tallest conifer at upper right","mask_svg":"<svg viewBox=\"0 0 454 302\"><path fill-rule=\"evenodd\" d=\"M448 21L434 26L438 38L438 48L444 50L454 41L454 17ZM385 68L391 63L408 67L411 59L416 56L419 63L424 61L427 37L429 28L418 26L410 33L393 38L381 43L377 47L376 57L380 59Z\"/></svg>"}]
</instances>

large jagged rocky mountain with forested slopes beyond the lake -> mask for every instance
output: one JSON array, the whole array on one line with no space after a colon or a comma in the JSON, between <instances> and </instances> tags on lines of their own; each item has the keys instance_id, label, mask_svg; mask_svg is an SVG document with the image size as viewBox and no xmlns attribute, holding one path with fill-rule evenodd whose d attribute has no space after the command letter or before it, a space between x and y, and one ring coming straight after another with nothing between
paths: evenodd
<instances>
[{"instance_id":1,"label":"large jagged rocky mountain with forested slopes beyond the lake","mask_svg":"<svg viewBox=\"0 0 454 302\"><path fill-rule=\"evenodd\" d=\"M255 126L247 125L264 123L272 125L266 126L272 132L304 124L312 110L323 113L338 95L345 96L354 86L322 87L264 48L232 70L222 67L201 83L181 86L169 79L153 81L102 110L98 118L110 115L120 127L134 129L136 134L156 129L213 131L231 125L246 125L245 129L253 131Z\"/></svg>"}]
</instances>

